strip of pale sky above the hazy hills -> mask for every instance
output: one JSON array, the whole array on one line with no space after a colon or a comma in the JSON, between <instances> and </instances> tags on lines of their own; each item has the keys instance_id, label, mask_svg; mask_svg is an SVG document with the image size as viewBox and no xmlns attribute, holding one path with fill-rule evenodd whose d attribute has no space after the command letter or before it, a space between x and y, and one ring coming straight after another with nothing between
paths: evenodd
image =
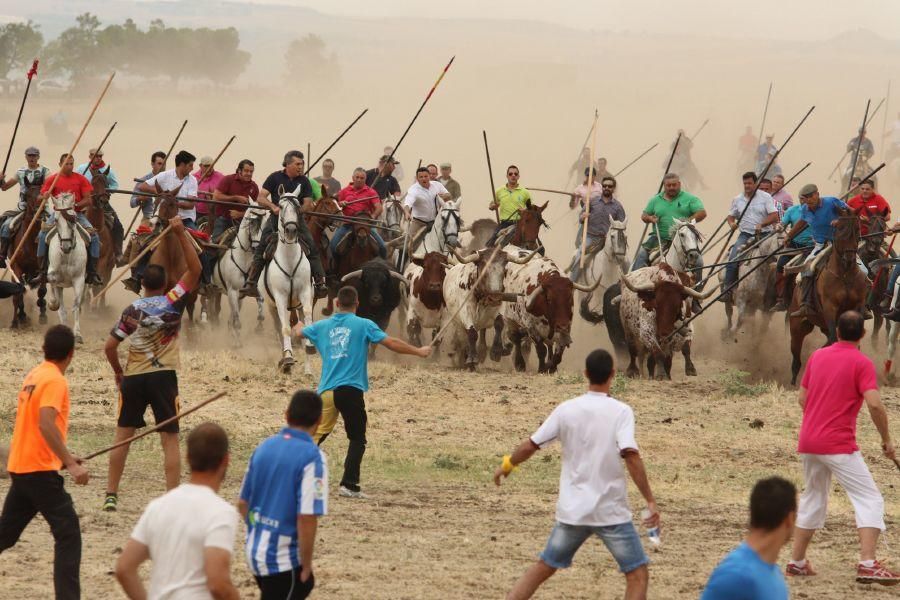
<instances>
[{"instance_id":1,"label":"strip of pale sky above the hazy hills","mask_svg":"<svg viewBox=\"0 0 900 600\"><path fill-rule=\"evenodd\" d=\"M423 14L420 0L250 1L365 18ZM430 17L519 18L580 29L776 39L822 39L860 28L895 38L900 22L900 2L895 0L856 0L852 6L833 0L563 0L552 5L535 0L453 0L430 6L434 7L428 11Z\"/></svg>"}]
</instances>

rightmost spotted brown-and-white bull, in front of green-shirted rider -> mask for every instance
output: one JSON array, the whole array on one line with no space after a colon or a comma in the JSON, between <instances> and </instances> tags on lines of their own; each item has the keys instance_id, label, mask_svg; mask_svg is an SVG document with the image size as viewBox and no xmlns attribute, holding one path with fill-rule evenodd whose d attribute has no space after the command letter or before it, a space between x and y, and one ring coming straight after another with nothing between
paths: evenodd
<instances>
[{"instance_id":1,"label":"rightmost spotted brown-and-white bull, in front of green-shirted rider","mask_svg":"<svg viewBox=\"0 0 900 600\"><path fill-rule=\"evenodd\" d=\"M675 271L660 263L632 271L621 279L622 295L619 299L619 316L628 344L631 362L626 374L638 377L644 359L647 372L657 379L672 378L672 354L681 351L685 360L685 372L695 375L690 348L693 329L690 325L679 333L670 335L690 317L691 301L704 300L718 291L713 287L705 293L691 289L690 275ZM662 368L656 372L656 365Z\"/></svg>"}]
</instances>

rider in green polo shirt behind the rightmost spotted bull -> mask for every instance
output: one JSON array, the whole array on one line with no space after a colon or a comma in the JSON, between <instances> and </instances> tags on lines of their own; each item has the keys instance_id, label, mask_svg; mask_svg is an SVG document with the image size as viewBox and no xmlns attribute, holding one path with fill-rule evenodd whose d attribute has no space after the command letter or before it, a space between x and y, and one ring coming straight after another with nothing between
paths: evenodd
<instances>
[{"instance_id":1,"label":"rider in green polo shirt behind the rightmost spotted bull","mask_svg":"<svg viewBox=\"0 0 900 600\"><path fill-rule=\"evenodd\" d=\"M656 239L656 232L662 238L662 247L672 241L670 229L675 219L691 220L697 222L706 218L706 209L703 208L703 202L700 198L689 194L681 189L681 179L675 173L667 173L663 177L663 191L650 198L647 207L641 213L641 221L650 223L650 235L647 241L641 246L631 270L640 269L650 264L650 252L655 250L659 245ZM702 261L702 259L701 259ZM698 266L703 266L702 262Z\"/></svg>"}]
</instances>

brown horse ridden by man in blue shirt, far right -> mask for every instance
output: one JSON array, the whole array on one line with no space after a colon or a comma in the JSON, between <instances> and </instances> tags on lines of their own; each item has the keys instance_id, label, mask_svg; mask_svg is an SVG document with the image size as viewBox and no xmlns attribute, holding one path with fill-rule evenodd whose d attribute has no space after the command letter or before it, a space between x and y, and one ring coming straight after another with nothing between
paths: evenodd
<instances>
[{"instance_id":1,"label":"brown horse ridden by man in blue shirt, far right","mask_svg":"<svg viewBox=\"0 0 900 600\"><path fill-rule=\"evenodd\" d=\"M805 317L790 317L791 330L791 385L796 385L800 372L800 354L803 340L818 327L828 338L826 345L837 341L838 317L848 311L862 312L869 294L869 280L856 264L859 244L859 218L840 217L834 229L834 243L825 268L812 275L815 277L816 306ZM796 311L801 304L798 285L794 290L790 311Z\"/></svg>"}]
</instances>

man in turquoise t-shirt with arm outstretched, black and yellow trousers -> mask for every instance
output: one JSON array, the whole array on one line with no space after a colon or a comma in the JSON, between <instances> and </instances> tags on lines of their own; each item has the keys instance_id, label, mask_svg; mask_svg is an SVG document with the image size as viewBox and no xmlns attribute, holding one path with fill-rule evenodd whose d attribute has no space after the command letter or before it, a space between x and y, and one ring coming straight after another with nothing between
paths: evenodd
<instances>
[{"instance_id":1,"label":"man in turquoise t-shirt with arm outstretched, black and yellow trousers","mask_svg":"<svg viewBox=\"0 0 900 600\"><path fill-rule=\"evenodd\" d=\"M397 354L426 358L431 346L416 348L388 336L369 319L356 316L359 297L350 286L338 291L337 312L311 325L298 324L294 333L315 345L322 357L319 395L322 396L322 423L315 440L321 444L334 429L338 413L350 441L344 459L344 476L338 490L347 498L368 498L359 488L359 469L366 451L366 402L369 390L369 344L381 344Z\"/></svg>"}]
</instances>

